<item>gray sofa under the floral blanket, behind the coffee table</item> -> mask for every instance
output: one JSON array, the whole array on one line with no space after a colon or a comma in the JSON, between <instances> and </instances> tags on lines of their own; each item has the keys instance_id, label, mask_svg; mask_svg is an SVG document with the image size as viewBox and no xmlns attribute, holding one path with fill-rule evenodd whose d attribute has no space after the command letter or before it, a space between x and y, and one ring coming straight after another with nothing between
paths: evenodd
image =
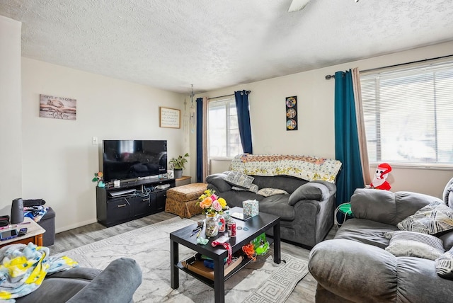
<instances>
[{"instance_id":1,"label":"gray sofa under the floral blanket, behind the coffee table","mask_svg":"<svg viewBox=\"0 0 453 303\"><path fill-rule=\"evenodd\" d=\"M286 194L265 197L227 182L229 172L207 176L207 188L215 190L229 207L242 207L245 200L258 200L259 211L281 217L280 236L311 248L321 242L333 226L336 185L327 181L306 181L291 176L251 176L258 190L273 188ZM273 231L269 234L272 235Z\"/></svg>"}]
</instances>

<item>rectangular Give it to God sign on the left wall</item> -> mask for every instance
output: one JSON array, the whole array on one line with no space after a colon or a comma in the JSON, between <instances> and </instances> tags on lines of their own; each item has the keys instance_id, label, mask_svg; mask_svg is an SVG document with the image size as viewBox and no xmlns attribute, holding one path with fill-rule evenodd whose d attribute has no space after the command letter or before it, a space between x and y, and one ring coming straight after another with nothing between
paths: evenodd
<instances>
[{"instance_id":1,"label":"rectangular Give it to God sign on the left wall","mask_svg":"<svg viewBox=\"0 0 453 303\"><path fill-rule=\"evenodd\" d=\"M40 117L76 120L77 100L40 94Z\"/></svg>"}]
</instances>

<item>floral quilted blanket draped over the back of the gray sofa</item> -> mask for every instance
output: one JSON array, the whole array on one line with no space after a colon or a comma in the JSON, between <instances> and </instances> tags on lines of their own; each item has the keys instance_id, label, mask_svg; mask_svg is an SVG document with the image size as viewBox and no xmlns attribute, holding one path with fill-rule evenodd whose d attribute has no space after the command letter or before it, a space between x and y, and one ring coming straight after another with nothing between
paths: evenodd
<instances>
[{"instance_id":1,"label":"floral quilted blanket draped over the back of the gray sofa","mask_svg":"<svg viewBox=\"0 0 453 303\"><path fill-rule=\"evenodd\" d=\"M294 155L239 154L231 161L230 170L253 176L293 176L306 181L334 183L341 162L335 159Z\"/></svg>"}]
</instances>

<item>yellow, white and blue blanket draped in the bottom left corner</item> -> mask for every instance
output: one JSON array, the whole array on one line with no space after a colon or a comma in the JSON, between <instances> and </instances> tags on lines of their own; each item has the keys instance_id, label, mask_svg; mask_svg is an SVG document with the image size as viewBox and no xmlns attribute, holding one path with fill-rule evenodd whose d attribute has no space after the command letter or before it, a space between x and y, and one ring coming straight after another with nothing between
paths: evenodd
<instances>
[{"instance_id":1,"label":"yellow, white and blue blanket draped in the bottom left corner","mask_svg":"<svg viewBox=\"0 0 453 303\"><path fill-rule=\"evenodd\" d=\"M31 242L0 248L0 299L15 302L14 298L38 289L47 274L79 266L66 256L49 258L49 254L49 248Z\"/></svg>"}]
</instances>

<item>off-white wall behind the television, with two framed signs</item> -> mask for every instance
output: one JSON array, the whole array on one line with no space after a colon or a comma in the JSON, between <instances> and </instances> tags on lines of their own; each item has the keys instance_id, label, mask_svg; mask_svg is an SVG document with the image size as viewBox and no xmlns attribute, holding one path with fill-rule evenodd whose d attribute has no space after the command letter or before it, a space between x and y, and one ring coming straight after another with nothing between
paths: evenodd
<instances>
[{"instance_id":1,"label":"off-white wall behind the television, with two framed signs","mask_svg":"<svg viewBox=\"0 0 453 303\"><path fill-rule=\"evenodd\" d=\"M23 198L44 198L57 231L96 222L98 145L103 139L166 139L168 159L185 152L183 129L159 127L159 106L184 96L22 58ZM40 93L75 98L76 120L40 118Z\"/></svg>"}]
</instances>

